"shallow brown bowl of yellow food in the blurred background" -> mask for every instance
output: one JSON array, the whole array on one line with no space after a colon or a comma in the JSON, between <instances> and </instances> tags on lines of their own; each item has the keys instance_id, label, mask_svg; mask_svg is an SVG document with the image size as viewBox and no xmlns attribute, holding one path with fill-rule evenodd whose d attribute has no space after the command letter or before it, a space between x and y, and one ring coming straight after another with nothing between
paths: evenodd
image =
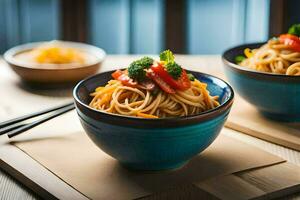
<instances>
[{"instance_id":1,"label":"shallow brown bowl of yellow food in the blurred background","mask_svg":"<svg viewBox=\"0 0 300 200\"><path fill-rule=\"evenodd\" d=\"M58 85L95 74L105 55L92 45L54 40L13 47L4 59L26 83Z\"/></svg>"}]
</instances>

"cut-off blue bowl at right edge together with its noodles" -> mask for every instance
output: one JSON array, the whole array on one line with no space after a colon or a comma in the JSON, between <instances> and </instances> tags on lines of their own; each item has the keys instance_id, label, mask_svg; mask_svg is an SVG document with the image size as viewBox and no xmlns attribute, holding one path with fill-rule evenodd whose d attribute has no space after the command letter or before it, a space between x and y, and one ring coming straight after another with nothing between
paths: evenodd
<instances>
[{"instance_id":1,"label":"cut-off blue bowl at right edge together with its noodles","mask_svg":"<svg viewBox=\"0 0 300 200\"><path fill-rule=\"evenodd\" d=\"M234 89L267 118L300 121L300 25L267 42L244 44L223 53ZM246 116L246 113L245 113Z\"/></svg>"}]
</instances>

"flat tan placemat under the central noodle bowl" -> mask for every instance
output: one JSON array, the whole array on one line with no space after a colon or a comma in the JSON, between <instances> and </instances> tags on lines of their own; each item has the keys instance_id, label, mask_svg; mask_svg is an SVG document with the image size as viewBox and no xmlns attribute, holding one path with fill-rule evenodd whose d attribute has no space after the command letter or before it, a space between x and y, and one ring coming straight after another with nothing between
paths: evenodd
<instances>
[{"instance_id":1,"label":"flat tan placemat under the central noodle bowl","mask_svg":"<svg viewBox=\"0 0 300 200\"><path fill-rule=\"evenodd\" d=\"M43 129L35 130L32 137L22 138L15 145L55 176L91 199L142 198L172 188L185 188L191 184L197 186L197 183L202 183L208 178L283 161L222 134L206 151L180 170L160 173L132 172L123 169L116 160L99 150L83 132L61 135L59 127L69 124L68 117L56 120L60 123L49 122ZM56 124L55 128L51 128L52 123ZM34 139L34 136L41 135L41 131L44 131L43 135L59 135ZM223 132L231 130L225 128ZM210 184L212 183L208 185ZM298 185L298 182L293 184ZM238 190L238 185L233 182L232 186ZM285 187L289 188L287 184L283 188Z\"/></svg>"}]
</instances>

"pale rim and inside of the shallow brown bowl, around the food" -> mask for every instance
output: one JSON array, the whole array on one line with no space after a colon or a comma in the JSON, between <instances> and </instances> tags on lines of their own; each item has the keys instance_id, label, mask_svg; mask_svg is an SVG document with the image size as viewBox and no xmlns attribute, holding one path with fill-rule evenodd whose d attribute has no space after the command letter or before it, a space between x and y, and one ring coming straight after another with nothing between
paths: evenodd
<instances>
[{"instance_id":1,"label":"pale rim and inside of the shallow brown bowl, around the food","mask_svg":"<svg viewBox=\"0 0 300 200\"><path fill-rule=\"evenodd\" d=\"M74 63L66 63L66 64L51 64L51 63L26 63L24 61L18 61L14 56L18 53L28 51L33 49L36 46L39 46L43 43L51 42L51 41L39 41L39 42L29 42L29 43L24 43L20 44L17 46L14 46L3 54L4 60L11 65L15 65L17 67L21 68L26 68L26 69L32 69L32 70L55 70L55 71L63 71L63 70L71 70L71 69L80 69L80 68L85 68L85 67L90 67L93 65L97 65L101 62L104 61L106 58L106 52L99 47L82 43L82 42L73 42L73 41L65 41L65 40L55 40L58 41L59 43L65 43L66 45L77 47L79 49L82 49L86 51L87 53L95 56L95 60L91 62L87 62L84 64L74 64ZM59 67L55 67L59 66Z\"/></svg>"}]
</instances>

